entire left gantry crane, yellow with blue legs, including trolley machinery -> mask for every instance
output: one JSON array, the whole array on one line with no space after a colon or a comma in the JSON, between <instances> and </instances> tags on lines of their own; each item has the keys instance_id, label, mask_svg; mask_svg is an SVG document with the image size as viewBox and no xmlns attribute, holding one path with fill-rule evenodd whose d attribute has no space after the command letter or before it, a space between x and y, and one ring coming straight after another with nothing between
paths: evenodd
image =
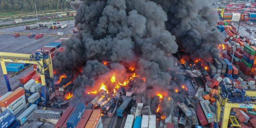
<instances>
[{"instance_id":1,"label":"entire left gantry crane, yellow with blue legs, including trolley machinery","mask_svg":"<svg viewBox=\"0 0 256 128\"><path fill-rule=\"evenodd\" d=\"M47 88L46 82L45 82L45 75L49 75L51 79L54 78L53 65L52 65L50 54L46 54L43 52L41 53L36 52L35 54L0 52L0 62L1 62L1 67L3 69L4 79L5 79L8 91L11 91L11 86L10 86L7 70L5 67L5 62L38 64L39 68L37 69L37 71L38 73L40 73L41 82L43 86L44 105L47 104L48 98L46 97L46 92L49 90L49 88L54 89L53 80L51 81L51 87L49 88ZM49 73L47 71L49 71Z\"/></svg>"}]
</instances>

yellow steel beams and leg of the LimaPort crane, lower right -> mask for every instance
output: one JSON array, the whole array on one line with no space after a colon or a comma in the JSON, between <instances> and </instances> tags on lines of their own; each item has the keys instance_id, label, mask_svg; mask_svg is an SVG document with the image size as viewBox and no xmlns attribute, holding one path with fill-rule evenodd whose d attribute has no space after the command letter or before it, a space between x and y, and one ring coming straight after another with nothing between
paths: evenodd
<instances>
[{"instance_id":1,"label":"yellow steel beams and leg of the LimaPort crane, lower right","mask_svg":"<svg viewBox=\"0 0 256 128\"><path fill-rule=\"evenodd\" d=\"M251 87L255 87L256 85L236 85L240 86L240 87L244 87L247 86L247 88L251 88ZM246 91L246 95L247 96L256 96L256 90L252 90L252 89L245 89ZM233 117L230 117L230 110L231 108L256 108L256 102L250 102L250 101L245 101L245 102L233 102L233 101L229 101L228 98L223 98L221 96L221 88L218 88L218 102L217 102L217 106L218 106L218 118L220 118L220 110L221 110L221 106L224 106L224 110L223 110L223 115L222 115L222 124L221 124L221 128L227 128L228 127L228 121L230 119L233 119ZM232 123L233 126L238 126L236 124L234 124L234 122ZM239 126L238 126L239 127Z\"/></svg>"}]
</instances>

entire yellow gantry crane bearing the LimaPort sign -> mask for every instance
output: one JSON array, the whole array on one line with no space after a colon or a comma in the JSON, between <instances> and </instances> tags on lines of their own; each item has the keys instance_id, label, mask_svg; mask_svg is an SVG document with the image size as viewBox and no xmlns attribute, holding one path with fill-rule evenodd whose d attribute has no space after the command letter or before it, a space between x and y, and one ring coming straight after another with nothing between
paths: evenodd
<instances>
[{"instance_id":1,"label":"entire yellow gantry crane bearing the LimaPort sign","mask_svg":"<svg viewBox=\"0 0 256 128\"><path fill-rule=\"evenodd\" d=\"M236 87L241 87L245 90L245 96L256 96L256 89L253 89L256 87L256 85L235 85ZM234 87L234 88L236 88ZM225 87L222 87L225 88ZM243 94L243 93L241 93ZM242 95L243 96L243 95ZM219 86L218 88L218 102L216 102L218 107L218 113L215 113L218 115L218 119L220 119L220 112L221 112L221 106L224 106L223 115L222 115L222 124L221 128L227 128L229 120L232 122L232 126L234 127L241 127L241 125L238 124L236 117L234 114L230 114L230 111L232 108L256 108L256 102L255 101L236 101L232 99L232 97L229 97L229 94L223 92L223 89ZM232 112L231 112L232 113ZM218 120L217 119L217 120Z\"/></svg>"}]
</instances>

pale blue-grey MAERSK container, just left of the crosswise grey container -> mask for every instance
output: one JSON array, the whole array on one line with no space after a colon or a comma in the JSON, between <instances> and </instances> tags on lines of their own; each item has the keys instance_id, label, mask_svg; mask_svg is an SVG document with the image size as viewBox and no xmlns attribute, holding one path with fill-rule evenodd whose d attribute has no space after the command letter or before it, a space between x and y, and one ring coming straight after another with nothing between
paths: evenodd
<instances>
[{"instance_id":1,"label":"pale blue-grey MAERSK container, just left of the crosswise grey container","mask_svg":"<svg viewBox=\"0 0 256 128\"><path fill-rule=\"evenodd\" d=\"M19 120L20 121L20 125L22 125L30 116L33 115L35 110L37 110L37 105L36 104L32 104L21 115L19 115L16 120Z\"/></svg>"}]
</instances>

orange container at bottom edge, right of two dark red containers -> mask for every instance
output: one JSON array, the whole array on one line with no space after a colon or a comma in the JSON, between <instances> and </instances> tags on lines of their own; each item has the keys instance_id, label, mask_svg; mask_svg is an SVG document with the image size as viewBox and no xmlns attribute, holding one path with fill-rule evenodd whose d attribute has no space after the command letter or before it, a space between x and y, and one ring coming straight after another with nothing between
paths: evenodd
<instances>
[{"instance_id":1,"label":"orange container at bottom edge, right of two dark red containers","mask_svg":"<svg viewBox=\"0 0 256 128\"><path fill-rule=\"evenodd\" d=\"M94 109L92 112L91 117L89 118L85 128L99 128L101 125L101 110Z\"/></svg>"}]
</instances>

